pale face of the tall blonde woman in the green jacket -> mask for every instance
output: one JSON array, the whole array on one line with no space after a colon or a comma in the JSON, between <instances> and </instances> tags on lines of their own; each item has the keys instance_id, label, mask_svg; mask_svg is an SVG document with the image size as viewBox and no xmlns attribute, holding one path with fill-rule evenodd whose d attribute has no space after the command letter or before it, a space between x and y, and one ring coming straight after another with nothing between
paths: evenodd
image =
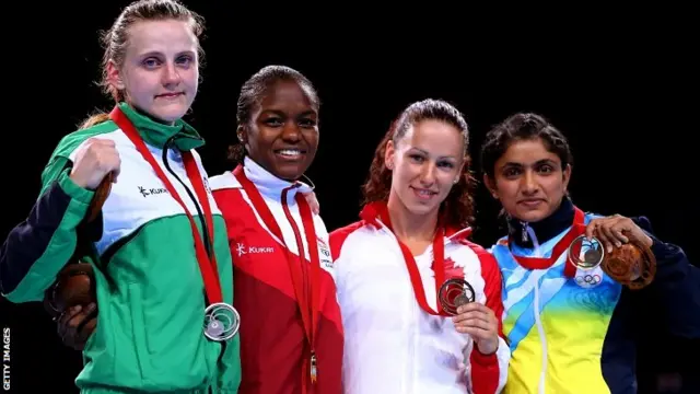
<instances>
[{"instance_id":1,"label":"pale face of the tall blonde woman in the green jacket","mask_svg":"<svg viewBox=\"0 0 700 394\"><path fill-rule=\"evenodd\" d=\"M197 95L197 49L189 22L136 22L128 30L124 65L107 65L109 83L133 107L173 123L187 113Z\"/></svg>"}]
</instances>

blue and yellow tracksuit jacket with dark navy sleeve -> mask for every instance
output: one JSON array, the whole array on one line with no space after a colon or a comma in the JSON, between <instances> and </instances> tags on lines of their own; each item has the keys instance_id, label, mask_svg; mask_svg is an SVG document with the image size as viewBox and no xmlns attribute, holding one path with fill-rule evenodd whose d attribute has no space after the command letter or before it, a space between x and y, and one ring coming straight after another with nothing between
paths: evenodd
<instances>
[{"instance_id":1,"label":"blue and yellow tracksuit jacket with dark navy sleeve","mask_svg":"<svg viewBox=\"0 0 700 394\"><path fill-rule=\"evenodd\" d=\"M549 257L573 216L573 204L564 199L540 222L510 220L509 236L491 248L503 276L503 331L512 354L505 393L635 393L635 349L644 327L661 321L658 331L700 338L700 269L678 246L653 236L645 218L634 221L654 241L657 271L642 290L629 290L602 271L599 283L578 285L563 273L567 253L539 269L513 257L534 256L533 236L539 256ZM595 217L586 213L585 223ZM653 302L661 308L650 311Z\"/></svg>"}]
</instances>

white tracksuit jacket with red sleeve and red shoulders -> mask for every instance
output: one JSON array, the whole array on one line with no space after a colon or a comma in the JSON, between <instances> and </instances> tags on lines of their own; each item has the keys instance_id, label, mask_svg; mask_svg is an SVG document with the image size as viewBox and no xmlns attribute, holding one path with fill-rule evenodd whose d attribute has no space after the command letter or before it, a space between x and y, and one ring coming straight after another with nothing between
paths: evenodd
<instances>
[{"instance_id":1,"label":"white tracksuit jacket with red sleeve and red shoulders","mask_svg":"<svg viewBox=\"0 0 700 394\"><path fill-rule=\"evenodd\" d=\"M501 331L501 274L485 248L469 242L469 229L445 232L450 277L465 278L476 302L499 318L499 348L482 355L450 317L423 311L396 236L386 225L384 202L366 206L362 220L330 234L338 302L345 331L346 394L492 394L503 389L510 360ZM432 246L416 264L430 308L436 308Z\"/></svg>"}]
</instances>

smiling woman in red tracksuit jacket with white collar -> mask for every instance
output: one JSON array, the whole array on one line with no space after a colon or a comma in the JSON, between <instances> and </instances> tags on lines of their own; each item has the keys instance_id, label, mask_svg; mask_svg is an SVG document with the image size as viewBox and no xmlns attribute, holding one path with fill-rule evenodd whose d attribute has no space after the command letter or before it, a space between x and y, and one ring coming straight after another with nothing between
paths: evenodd
<instances>
[{"instance_id":1,"label":"smiling woman in red tracksuit jacket with white collar","mask_svg":"<svg viewBox=\"0 0 700 394\"><path fill-rule=\"evenodd\" d=\"M311 82L269 66L243 84L238 164L210 177L234 262L241 313L238 393L341 392L342 322L328 233L300 182L318 146Z\"/></svg>"}]
</instances>

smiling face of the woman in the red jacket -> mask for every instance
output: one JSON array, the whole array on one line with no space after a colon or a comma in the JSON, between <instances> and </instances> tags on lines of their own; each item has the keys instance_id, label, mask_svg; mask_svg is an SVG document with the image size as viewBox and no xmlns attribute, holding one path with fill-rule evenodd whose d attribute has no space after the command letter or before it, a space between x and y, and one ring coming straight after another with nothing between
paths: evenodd
<instances>
[{"instance_id":1,"label":"smiling face of the woman in the red jacket","mask_svg":"<svg viewBox=\"0 0 700 394\"><path fill-rule=\"evenodd\" d=\"M252 115L238 128L248 157L279 178L299 179L318 147L318 108L310 92L296 81L280 80Z\"/></svg>"}]
</instances>

